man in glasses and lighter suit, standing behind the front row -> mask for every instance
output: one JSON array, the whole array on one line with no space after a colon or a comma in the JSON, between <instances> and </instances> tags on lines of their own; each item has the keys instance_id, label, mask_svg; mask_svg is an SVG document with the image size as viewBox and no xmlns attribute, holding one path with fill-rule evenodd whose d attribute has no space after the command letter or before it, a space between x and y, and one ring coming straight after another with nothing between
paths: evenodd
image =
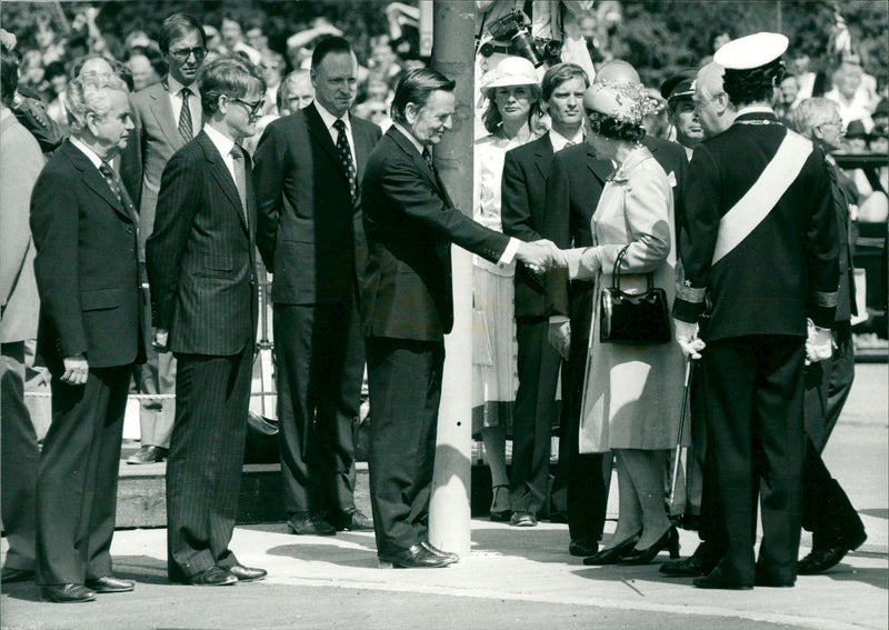
<instances>
[{"instance_id":1,"label":"man in glasses and lighter suit, standing behind the front row","mask_svg":"<svg viewBox=\"0 0 889 630\"><path fill-rule=\"evenodd\" d=\"M163 167L176 151L200 131L200 94L196 78L207 56L207 36L201 23L183 13L163 20L158 46L169 73L158 83L132 96L134 139L121 158L121 178L139 208L139 261L144 266L146 239L154 226L154 210ZM172 393L176 359L149 350L148 361L137 373L141 393ZM170 448L176 401L146 400L139 418L141 448L127 463L162 461Z\"/></svg>"}]
</instances>

